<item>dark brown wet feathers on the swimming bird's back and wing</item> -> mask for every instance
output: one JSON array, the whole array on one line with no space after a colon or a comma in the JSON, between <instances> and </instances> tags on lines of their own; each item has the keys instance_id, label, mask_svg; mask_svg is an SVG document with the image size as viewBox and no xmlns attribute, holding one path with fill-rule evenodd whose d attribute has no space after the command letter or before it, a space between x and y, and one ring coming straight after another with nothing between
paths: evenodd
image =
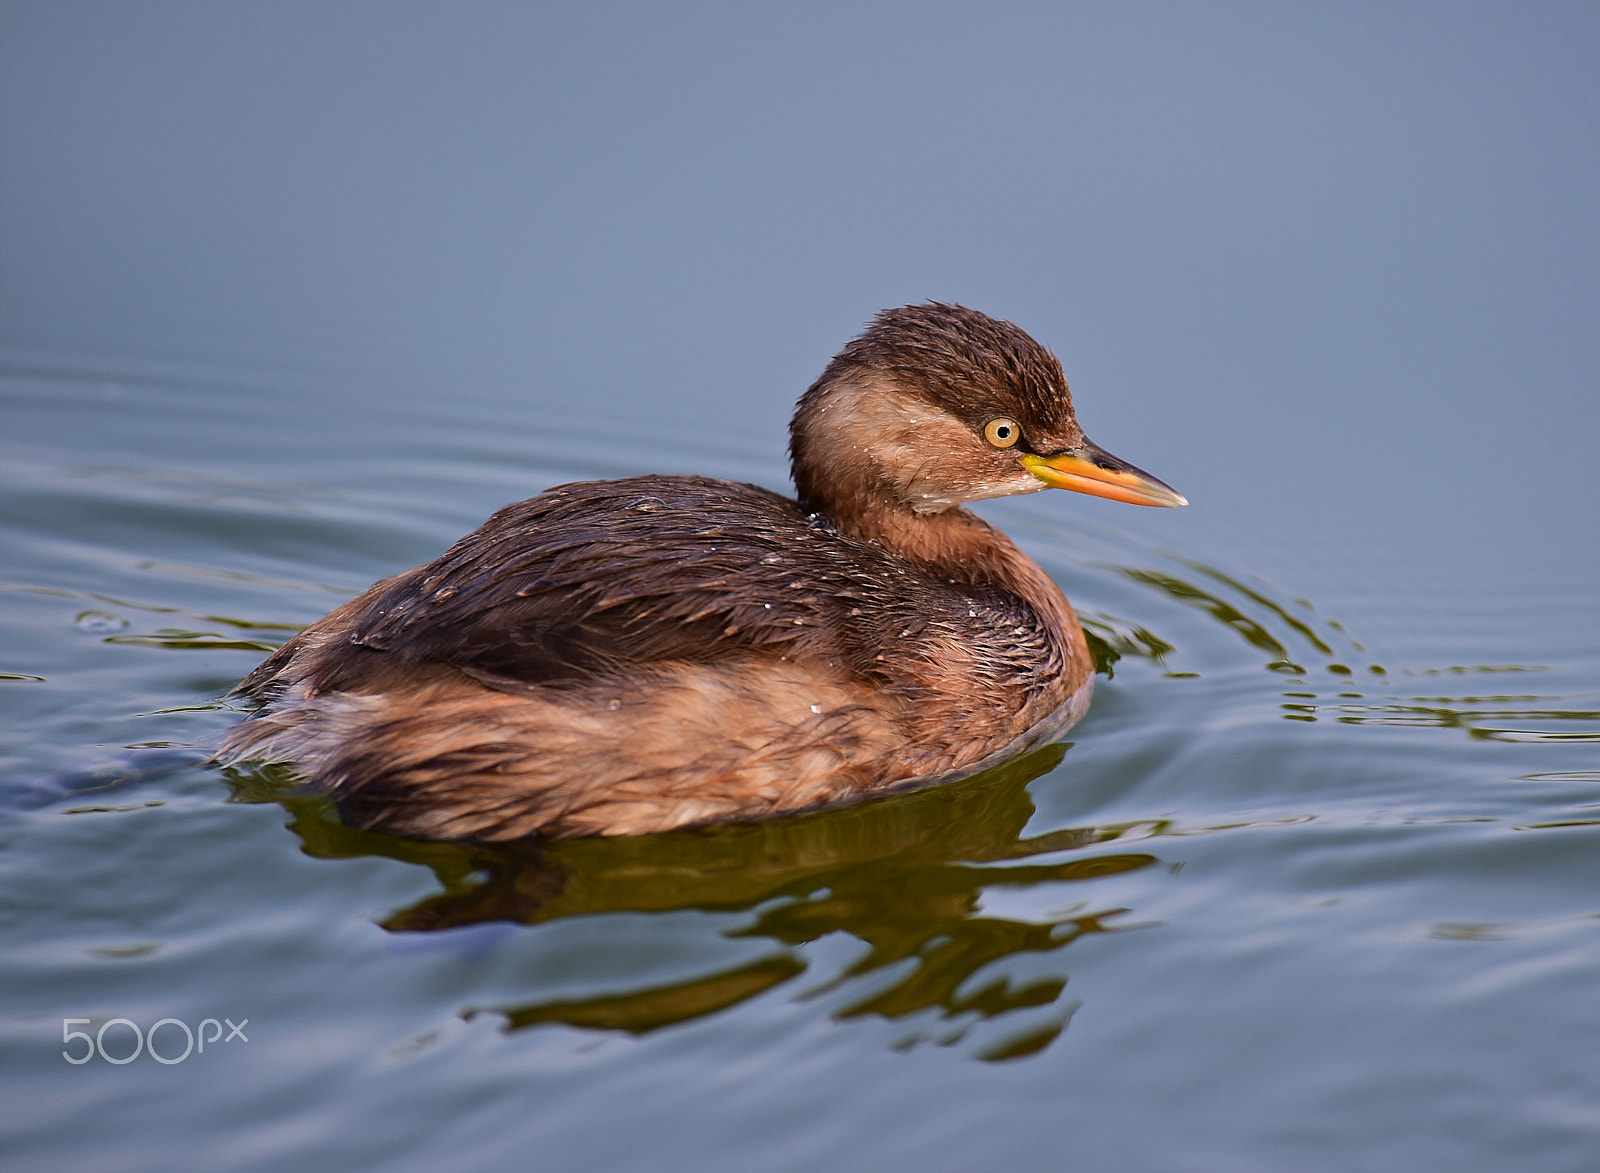
<instances>
[{"instance_id":1,"label":"dark brown wet feathers on the swimming bird's back and wing","mask_svg":"<svg viewBox=\"0 0 1600 1173\"><path fill-rule=\"evenodd\" d=\"M646 663L800 651L874 679L888 632L864 631L853 603L898 574L878 547L819 530L754 485L589 482L501 509L386 584L347 642L510 691ZM894 634L925 626L912 615L891 623Z\"/></svg>"}]
</instances>

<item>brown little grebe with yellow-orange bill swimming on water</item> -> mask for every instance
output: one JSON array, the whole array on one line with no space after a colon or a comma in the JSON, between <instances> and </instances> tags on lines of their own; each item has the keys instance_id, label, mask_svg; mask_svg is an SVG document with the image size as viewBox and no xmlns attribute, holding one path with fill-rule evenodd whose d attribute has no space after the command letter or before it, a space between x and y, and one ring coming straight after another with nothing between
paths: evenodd
<instances>
[{"instance_id":1,"label":"brown little grebe with yellow-orange bill swimming on water","mask_svg":"<svg viewBox=\"0 0 1600 1173\"><path fill-rule=\"evenodd\" d=\"M1058 736L1094 667L1054 582L962 504L1184 498L1090 443L1061 363L960 306L883 310L800 398L798 501L562 485L307 627L222 744L358 826L629 835L971 773Z\"/></svg>"}]
</instances>

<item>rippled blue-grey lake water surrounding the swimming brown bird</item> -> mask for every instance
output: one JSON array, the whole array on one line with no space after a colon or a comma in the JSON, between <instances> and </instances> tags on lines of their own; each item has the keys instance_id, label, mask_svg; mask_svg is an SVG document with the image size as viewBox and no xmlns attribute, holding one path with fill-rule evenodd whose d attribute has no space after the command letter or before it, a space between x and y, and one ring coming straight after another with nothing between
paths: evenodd
<instances>
[{"instance_id":1,"label":"rippled blue-grey lake water surrounding the swimming brown bird","mask_svg":"<svg viewBox=\"0 0 1600 1173\"><path fill-rule=\"evenodd\" d=\"M1434 21L0 10L6 1167L1595 1168L1600 21ZM507 501L786 488L930 296L1195 502L982 507L1066 744L494 850L48 792Z\"/></svg>"}]
</instances>

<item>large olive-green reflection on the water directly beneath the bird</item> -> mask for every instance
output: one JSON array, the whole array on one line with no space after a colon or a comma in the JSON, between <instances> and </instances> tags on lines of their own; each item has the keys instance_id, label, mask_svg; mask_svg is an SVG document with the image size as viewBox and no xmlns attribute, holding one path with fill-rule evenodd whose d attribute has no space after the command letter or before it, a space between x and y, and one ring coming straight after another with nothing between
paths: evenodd
<instances>
[{"instance_id":1,"label":"large olive-green reflection on the water directly beneath the bird","mask_svg":"<svg viewBox=\"0 0 1600 1173\"><path fill-rule=\"evenodd\" d=\"M1118 839L1128 827L1022 837L1034 813L1027 784L1059 765L1066 751L1048 746L946 787L790 819L510 845L352 831L328 803L291 797L282 771L234 770L229 778L238 800L283 802L312 856L376 855L429 867L443 891L389 915L382 925L390 931L494 920L539 925L606 912L750 912L752 922L725 936L778 946L754 963L688 981L486 1008L504 1016L509 1031L565 1023L645 1034L794 984L790 997L834 999L837 1019L907 1021L912 1029L896 1045L949 1045L979 1024L1005 1019L976 1040L974 1055L1011 1059L1059 1035L1070 1007L1061 1003L1064 973L1016 978L1005 971L1006 960L1056 954L1083 936L1131 925L1112 923L1126 909L1066 896L1037 920L992 915L984 912L984 895L1091 883L1158 863L1144 851L1054 858ZM840 973L821 981L811 975L814 984L798 989L808 971L800 947L834 933L850 935L864 952Z\"/></svg>"}]
</instances>

